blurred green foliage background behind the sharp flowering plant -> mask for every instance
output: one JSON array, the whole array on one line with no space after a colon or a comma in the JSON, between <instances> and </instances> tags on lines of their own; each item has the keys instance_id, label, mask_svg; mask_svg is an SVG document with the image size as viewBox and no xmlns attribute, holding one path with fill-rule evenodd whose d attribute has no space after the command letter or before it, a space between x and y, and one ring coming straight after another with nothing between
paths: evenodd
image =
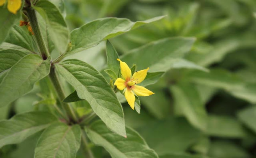
<instances>
[{"instance_id":1,"label":"blurred green foliage background behind the sharp flowering plant","mask_svg":"<svg viewBox=\"0 0 256 158\"><path fill-rule=\"evenodd\" d=\"M64 4L62 14L70 31L97 18L140 21L167 15L110 39L119 55L163 38L196 38L185 58L209 72L177 65L147 87L155 95L140 98L140 114L122 104L126 125L137 130L160 158L256 158L256 0L64 0ZM102 71L105 43L68 58ZM15 106L1 108L0 119L33 110L38 91L35 87ZM0 152L4 158L32 158L39 135ZM109 157L103 148L92 148L96 157Z\"/></svg>"}]
</instances>

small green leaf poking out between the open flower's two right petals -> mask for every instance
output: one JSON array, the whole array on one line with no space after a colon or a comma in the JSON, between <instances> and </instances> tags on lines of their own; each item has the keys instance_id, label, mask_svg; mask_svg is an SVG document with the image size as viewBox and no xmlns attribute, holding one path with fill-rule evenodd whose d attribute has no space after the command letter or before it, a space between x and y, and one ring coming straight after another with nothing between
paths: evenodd
<instances>
[{"instance_id":1,"label":"small green leaf poking out between the open flower's two right petals","mask_svg":"<svg viewBox=\"0 0 256 158\"><path fill-rule=\"evenodd\" d=\"M164 72L147 73L146 78L138 85L146 87L148 85L155 84L162 76Z\"/></svg>"}]
</instances>

